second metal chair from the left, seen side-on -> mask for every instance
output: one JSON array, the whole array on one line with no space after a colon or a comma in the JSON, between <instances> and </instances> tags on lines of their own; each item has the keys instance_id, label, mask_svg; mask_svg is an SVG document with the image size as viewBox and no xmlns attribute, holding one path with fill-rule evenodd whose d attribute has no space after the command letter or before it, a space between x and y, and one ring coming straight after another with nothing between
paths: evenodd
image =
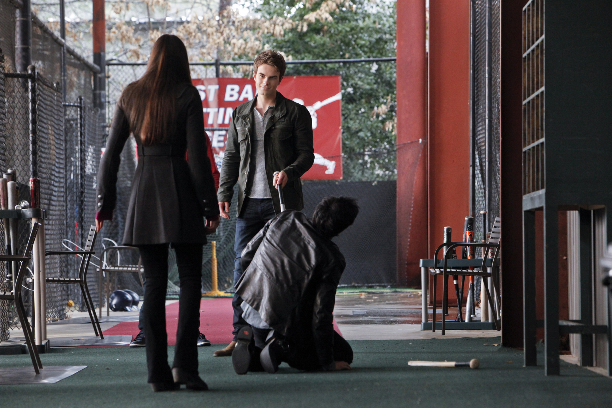
<instances>
[{"instance_id":1,"label":"second metal chair from the left, seen side-on","mask_svg":"<svg viewBox=\"0 0 612 408\"><path fill-rule=\"evenodd\" d=\"M87 241L85 243L85 247L83 251L47 251L45 252L45 256L49 255L80 255L81 256L81 264L78 269L78 278L47 278L47 283L52 284L78 284L81 287L81 294L83 295L83 300L85 302L85 307L89 313L89 319L91 319L91 324L94 326L94 333L96 336L100 336L101 339L104 338L102 334L102 327L100 327L100 322L98 321L98 316L95 314L95 306L94 301L91 299L91 294L89 293L89 287L87 286L87 270L89 269L89 262L91 262L91 256L95 254L95 251L92 251L92 248L95 245L95 238L97 237L97 232L95 232L95 225L89 226L89 234L87 236Z\"/></svg>"}]
</instances>

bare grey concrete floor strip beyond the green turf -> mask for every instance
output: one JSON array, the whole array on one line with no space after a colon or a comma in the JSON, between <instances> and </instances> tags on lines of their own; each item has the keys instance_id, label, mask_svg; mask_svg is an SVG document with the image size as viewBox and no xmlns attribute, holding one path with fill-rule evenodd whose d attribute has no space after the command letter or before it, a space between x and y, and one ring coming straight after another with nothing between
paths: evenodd
<instances>
[{"instance_id":1,"label":"bare grey concrete floor strip beyond the green turf","mask_svg":"<svg viewBox=\"0 0 612 408\"><path fill-rule=\"evenodd\" d=\"M168 300L166 305L177 302ZM449 308L455 316L457 308ZM70 319L47 325L47 338L93 336L87 312L72 312ZM496 330L447 330L446 335L420 330L420 292L339 292L334 316L340 332L347 340L409 340L428 338L496 337ZM441 317L438 316L438 319ZM431 314L430 314L431 319ZM138 321L138 311L102 311L100 326L108 330L120 322ZM22 337L21 330L13 330L11 337Z\"/></svg>"}]
</instances>

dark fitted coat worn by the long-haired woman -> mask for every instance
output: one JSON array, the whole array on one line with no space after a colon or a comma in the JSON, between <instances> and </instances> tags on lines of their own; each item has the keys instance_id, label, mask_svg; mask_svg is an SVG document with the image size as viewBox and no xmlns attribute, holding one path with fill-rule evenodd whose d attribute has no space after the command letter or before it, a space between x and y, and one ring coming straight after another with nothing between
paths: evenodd
<instances>
[{"instance_id":1,"label":"dark fitted coat worn by the long-haired woman","mask_svg":"<svg viewBox=\"0 0 612 408\"><path fill-rule=\"evenodd\" d=\"M136 138L138 165L125 217L125 245L206 243L203 217L219 213L200 95L191 84L178 85L175 95L176 125L165 144L142 146ZM98 219L112 218L120 155L130 132L120 99L100 160Z\"/></svg>"}]
</instances>

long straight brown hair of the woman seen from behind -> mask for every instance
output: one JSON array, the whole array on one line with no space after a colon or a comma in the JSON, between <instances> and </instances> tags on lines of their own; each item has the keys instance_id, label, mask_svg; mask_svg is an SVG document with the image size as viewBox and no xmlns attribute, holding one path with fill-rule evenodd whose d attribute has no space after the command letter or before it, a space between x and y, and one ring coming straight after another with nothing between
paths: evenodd
<instances>
[{"instance_id":1,"label":"long straight brown hair of the woman seen from behind","mask_svg":"<svg viewBox=\"0 0 612 408\"><path fill-rule=\"evenodd\" d=\"M142 144L163 143L173 131L173 92L179 83L191 83L187 49L176 35L164 34L155 41L142 78L121 95L130 130Z\"/></svg>"}]
</instances>

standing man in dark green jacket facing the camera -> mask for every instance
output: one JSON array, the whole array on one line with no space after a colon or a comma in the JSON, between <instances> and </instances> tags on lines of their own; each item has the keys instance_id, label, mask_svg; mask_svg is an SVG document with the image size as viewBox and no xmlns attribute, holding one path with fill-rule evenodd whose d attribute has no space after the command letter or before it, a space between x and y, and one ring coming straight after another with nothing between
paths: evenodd
<instances>
[{"instance_id":1,"label":"standing man in dark green jacket facing the camera","mask_svg":"<svg viewBox=\"0 0 612 408\"><path fill-rule=\"evenodd\" d=\"M242 250L268 220L280 213L278 195L272 191L280 185L287 209L304 208L300 177L315 160L312 119L305 106L277 92L285 68L285 59L277 51L259 54L253 64L256 97L232 114L217 199L221 217L230 218L233 188L238 183L234 284L242 275ZM274 175L275 171L280 172ZM248 325L242 319L241 303L241 297L234 294L234 339L225 349L215 351L217 357L232 354L237 333Z\"/></svg>"}]
</instances>

